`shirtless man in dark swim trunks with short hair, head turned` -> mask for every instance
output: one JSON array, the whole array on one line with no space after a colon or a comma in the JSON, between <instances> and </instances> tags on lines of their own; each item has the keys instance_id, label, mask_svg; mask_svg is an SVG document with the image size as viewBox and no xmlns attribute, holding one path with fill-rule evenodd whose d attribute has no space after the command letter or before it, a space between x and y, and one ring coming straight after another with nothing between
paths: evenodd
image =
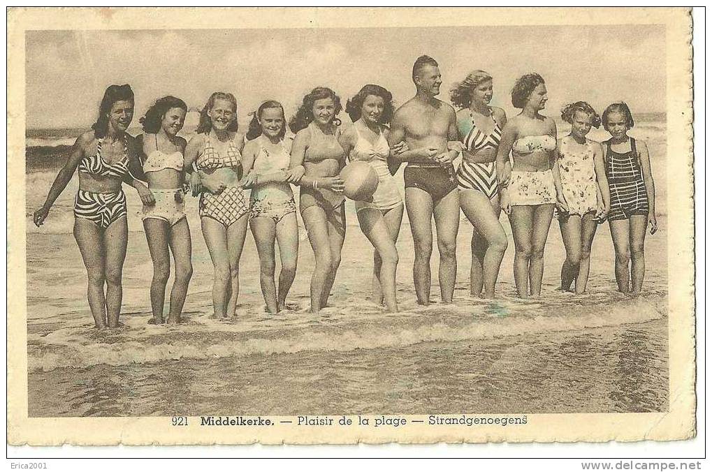
<instances>
[{"instance_id":1,"label":"shirtless man in dark swim trunks with short hair, head turned","mask_svg":"<svg viewBox=\"0 0 712 472\"><path fill-rule=\"evenodd\" d=\"M457 120L453 107L435 98L442 79L433 58L421 56L415 61L413 82L417 93L395 112L389 144L405 140L409 148L396 159L408 163L404 172L405 207L415 246L415 293L419 305L430 303L431 220L435 216L440 296L444 303L452 303L460 208L452 164L457 152L448 150L448 142L458 140Z\"/></svg>"}]
</instances>

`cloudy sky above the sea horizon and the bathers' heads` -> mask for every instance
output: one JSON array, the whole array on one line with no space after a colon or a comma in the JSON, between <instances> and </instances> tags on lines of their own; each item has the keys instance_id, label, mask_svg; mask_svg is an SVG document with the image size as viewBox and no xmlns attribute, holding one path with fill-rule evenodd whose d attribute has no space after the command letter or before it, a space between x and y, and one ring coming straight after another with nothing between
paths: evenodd
<instances>
[{"instance_id":1,"label":"cloudy sky above the sea horizon and the bathers' heads","mask_svg":"<svg viewBox=\"0 0 712 472\"><path fill-rule=\"evenodd\" d=\"M129 83L138 117L159 97L201 108L210 93L234 93L241 124L267 99L290 115L305 93L333 88L345 104L366 83L414 95L414 60L432 56L443 77L441 100L468 71L494 78L493 105L509 116L518 76L545 79L548 115L586 100L599 112L625 100L634 113L664 112L664 27L471 26L231 30L28 31L27 127L91 125L108 85ZM342 115L342 118L346 115ZM187 122L197 120L189 115Z\"/></svg>"}]
</instances>

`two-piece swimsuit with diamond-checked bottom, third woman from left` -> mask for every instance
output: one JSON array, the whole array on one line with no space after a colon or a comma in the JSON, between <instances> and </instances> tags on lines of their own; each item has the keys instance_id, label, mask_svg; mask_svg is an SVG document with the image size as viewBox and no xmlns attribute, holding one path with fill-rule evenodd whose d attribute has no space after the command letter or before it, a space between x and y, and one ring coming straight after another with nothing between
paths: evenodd
<instances>
[{"instance_id":1,"label":"two-piece swimsuit with diamond-checked bottom, third woman from left","mask_svg":"<svg viewBox=\"0 0 712 472\"><path fill-rule=\"evenodd\" d=\"M241 178L242 156L233 140L228 141L227 151L224 156L221 156L210 144L210 135L206 133L203 153L196 160L196 167L206 174L211 174L216 169L237 169L238 178ZM248 211L243 189L239 185L227 187L219 194L209 192L200 194L199 215L219 221L226 228L241 219Z\"/></svg>"}]
</instances>

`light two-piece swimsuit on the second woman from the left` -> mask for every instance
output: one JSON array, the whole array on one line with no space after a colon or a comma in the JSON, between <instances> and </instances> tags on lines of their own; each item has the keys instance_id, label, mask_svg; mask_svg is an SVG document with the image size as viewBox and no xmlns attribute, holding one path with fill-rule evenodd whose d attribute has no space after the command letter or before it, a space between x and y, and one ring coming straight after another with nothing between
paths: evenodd
<instances>
[{"instance_id":1,"label":"light two-piece swimsuit on the second woman from the left","mask_svg":"<svg viewBox=\"0 0 712 472\"><path fill-rule=\"evenodd\" d=\"M164 169L174 169L183 171L183 153L178 147L171 154L165 154L158 149L158 137L156 137L156 149L148 154L143 163L143 172L159 172ZM151 188L156 202L152 205L143 206L142 220L159 219L166 221L173 226L178 221L185 218L185 194L183 189L154 189Z\"/></svg>"}]
</instances>

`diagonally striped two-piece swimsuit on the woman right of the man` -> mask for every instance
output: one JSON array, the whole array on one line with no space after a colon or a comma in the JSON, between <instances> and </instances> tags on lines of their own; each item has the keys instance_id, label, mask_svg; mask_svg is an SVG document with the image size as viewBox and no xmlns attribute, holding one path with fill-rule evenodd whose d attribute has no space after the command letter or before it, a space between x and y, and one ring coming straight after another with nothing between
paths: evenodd
<instances>
[{"instance_id":1,"label":"diagonally striped two-piece swimsuit on the woman right of the man","mask_svg":"<svg viewBox=\"0 0 712 472\"><path fill-rule=\"evenodd\" d=\"M494 122L494 128L489 134L483 133L475 120L470 115L472 128L462 140L468 151L474 152L478 150L499 147L499 140L502 137L502 130L490 115ZM478 190L492 199L497 195L497 174L494 162L468 162L463 159L459 169L457 169L457 184L462 190Z\"/></svg>"}]
</instances>

